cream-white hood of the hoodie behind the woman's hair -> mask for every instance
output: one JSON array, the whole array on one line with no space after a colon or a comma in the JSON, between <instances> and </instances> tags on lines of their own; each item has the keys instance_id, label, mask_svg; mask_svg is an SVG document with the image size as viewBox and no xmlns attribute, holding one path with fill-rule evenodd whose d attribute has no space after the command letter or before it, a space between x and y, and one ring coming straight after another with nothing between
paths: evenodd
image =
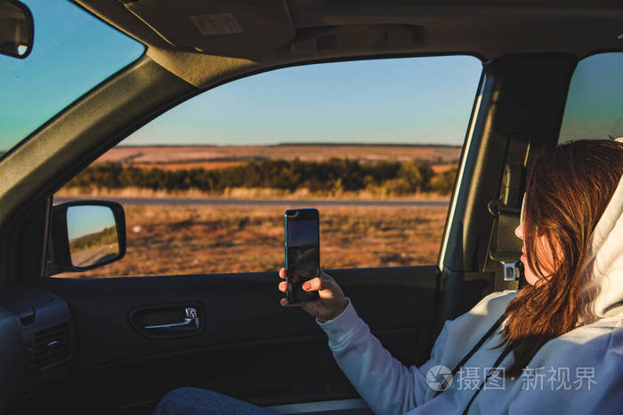
<instances>
[{"instance_id":1,"label":"cream-white hood of the hoodie behind the woman's hair","mask_svg":"<svg viewBox=\"0 0 623 415\"><path fill-rule=\"evenodd\" d=\"M623 177L597 222L587 263L599 286L594 302L597 317L623 313Z\"/></svg>"}]
</instances>

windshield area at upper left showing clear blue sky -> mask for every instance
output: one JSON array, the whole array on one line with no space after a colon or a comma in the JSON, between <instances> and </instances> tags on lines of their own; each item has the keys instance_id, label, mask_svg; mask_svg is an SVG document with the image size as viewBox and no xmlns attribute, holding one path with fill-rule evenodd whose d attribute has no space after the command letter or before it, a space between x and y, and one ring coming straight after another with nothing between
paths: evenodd
<instances>
[{"instance_id":1,"label":"windshield area at upper left showing clear blue sky","mask_svg":"<svg viewBox=\"0 0 623 415\"><path fill-rule=\"evenodd\" d=\"M35 42L25 60L0 55L0 154L145 50L69 1L22 2Z\"/></svg>"}]
</instances>

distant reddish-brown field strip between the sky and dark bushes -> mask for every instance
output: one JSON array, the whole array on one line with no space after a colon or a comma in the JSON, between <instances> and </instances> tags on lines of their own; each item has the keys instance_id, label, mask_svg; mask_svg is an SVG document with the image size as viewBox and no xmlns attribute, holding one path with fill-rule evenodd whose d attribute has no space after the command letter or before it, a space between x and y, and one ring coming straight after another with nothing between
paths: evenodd
<instances>
[{"instance_id":1,"label":"distant reddish-brown field strip between the sky and dark bushes","mask_svg":"<svg viewBox=\"0 0 623 415\"><path fill-rule=\"evenodd\" d=\"M331 157L360 162L425 161L431 164L455 165L461 148L454 146L381 146L381 145L277 145L277 146L145 146L116 147L97 162L133 164L136 167L158 165L161 169L220 169L231 165L261 160L321 162Z\"/></svg>"}]
</instances>

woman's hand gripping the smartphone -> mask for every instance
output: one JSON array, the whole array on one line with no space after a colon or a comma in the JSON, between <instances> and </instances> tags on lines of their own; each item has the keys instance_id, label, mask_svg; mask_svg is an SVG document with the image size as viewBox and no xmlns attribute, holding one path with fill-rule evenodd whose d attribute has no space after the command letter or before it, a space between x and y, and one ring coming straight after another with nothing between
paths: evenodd
<instances>
[{"instance_id":1,"label":"woman's hand gripping the smartphone","mask_svg":"<svg viewBox=\"0 0 623 415\"><path fill-rule=\"evenodd\" d=\"M286 268L279 269L279 277L282 280L286 279L286 275ZM287 282L282 281L279 283L279 291L287 291ZM348 306L348 299L344 297L344 292L342 292L340 286L337 285L336 280L334 280L331 275L325 274L322 271L320 271L320 276L303 283L303 291L318 291L320 298L295 304L288 304L287 299L281 299L281 305L284 307L303 307L303 310L305 310L307 314L318 317L320 323L333 320L338 315L341 315Z\"/></svg>"}]
</instances>

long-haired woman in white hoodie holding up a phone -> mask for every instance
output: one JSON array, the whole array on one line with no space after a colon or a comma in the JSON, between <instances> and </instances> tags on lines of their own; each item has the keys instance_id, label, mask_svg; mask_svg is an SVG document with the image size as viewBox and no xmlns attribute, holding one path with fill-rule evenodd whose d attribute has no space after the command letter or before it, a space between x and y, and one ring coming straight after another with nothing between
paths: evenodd
<instances>
[{"instance_id":1,"label":"long-haired woman in white hoodie holding up a phone","mask_svg":"<svg viewBox=\"0 0 623 415\"><path fill-rule=\"evenodd\" d=\"M622 174L623 142L614 140L577 141L541 157L515 230L528 284L446 322L419 368L381 346L329 275L303 285L320 299L300 307L376 413L620 413ZM439 377L449 370L451 379Z\"/></svg>"}]
</instances>

